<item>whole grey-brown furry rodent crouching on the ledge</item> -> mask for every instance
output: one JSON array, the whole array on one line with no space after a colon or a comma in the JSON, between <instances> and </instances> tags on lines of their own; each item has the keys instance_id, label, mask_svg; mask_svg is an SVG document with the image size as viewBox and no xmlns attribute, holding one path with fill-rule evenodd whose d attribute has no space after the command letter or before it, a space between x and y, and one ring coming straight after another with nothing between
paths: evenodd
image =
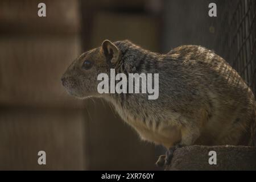
<instances>
[{"instance_id":1,"label":"whole grey-brown furry rodent crouching on the ledge","mask_svg":"<svg viewBox=\"0 0 256 182\"><path fill-rule=\"evenodd\" d=\"M159 98L147 94L99 94L97 75L159 73ZM253 145L255 99L240 75L213 51L180 46L166 54L147 51L129 40L110 42L82 53L61 78L79 98L103 97L143 140L162 144L170 164L177 147Z\"/></svg>"}]
</instances>

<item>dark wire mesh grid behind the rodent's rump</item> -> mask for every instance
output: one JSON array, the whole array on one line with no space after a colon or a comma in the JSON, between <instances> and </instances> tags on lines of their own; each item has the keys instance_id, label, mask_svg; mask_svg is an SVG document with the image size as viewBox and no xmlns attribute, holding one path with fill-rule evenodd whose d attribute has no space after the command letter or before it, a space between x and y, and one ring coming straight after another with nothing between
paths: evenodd
<instances>
[{"instance_id":1,"label":"dark wire mesh grid behind the rodent's rump","mask_svg":"<svg viewBox=\"0 0 256 182\"><path fill-rule=\"evenodd\" d=\"M216 51L253 89L256 87L256 1L225 0L218 6Z\"/></svg>"}]
</instances>

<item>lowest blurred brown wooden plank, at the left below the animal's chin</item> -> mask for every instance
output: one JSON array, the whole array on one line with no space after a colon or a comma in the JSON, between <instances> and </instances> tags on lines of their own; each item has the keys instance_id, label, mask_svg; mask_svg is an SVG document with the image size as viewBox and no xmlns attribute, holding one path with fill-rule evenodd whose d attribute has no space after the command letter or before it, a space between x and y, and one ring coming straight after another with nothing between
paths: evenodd
<instances>
[{"instance_id":1,"label":"lowest blurred brown wooden plank, at the left below the animal's chin","mask_svg":"<svg viewBox=\"0 0 256 182\"><path fill-rule=\"evenodd\" d=\"M81 111L0 111L0 170L85 169ZM46 151L46 165L38 151Z\"/></svg>"}]
</instances>

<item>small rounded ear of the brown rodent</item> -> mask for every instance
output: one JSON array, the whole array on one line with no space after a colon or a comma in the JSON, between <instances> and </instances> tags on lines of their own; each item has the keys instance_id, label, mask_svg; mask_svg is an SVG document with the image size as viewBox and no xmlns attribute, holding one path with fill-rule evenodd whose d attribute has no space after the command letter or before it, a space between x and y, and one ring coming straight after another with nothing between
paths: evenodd
<instances>
[{"instance_id":1,"label":"small rounded ear of the brown rodent","mask_svg":"<svg viewBox=\"0 0 256 182\"><path fill-rule=\"evenodd\" d=\"M119 49L110 40L104 40L101 45L101 52L106 57L106 60L112 64L117 63L120 55Z\"/></svg>"}]
</instances>

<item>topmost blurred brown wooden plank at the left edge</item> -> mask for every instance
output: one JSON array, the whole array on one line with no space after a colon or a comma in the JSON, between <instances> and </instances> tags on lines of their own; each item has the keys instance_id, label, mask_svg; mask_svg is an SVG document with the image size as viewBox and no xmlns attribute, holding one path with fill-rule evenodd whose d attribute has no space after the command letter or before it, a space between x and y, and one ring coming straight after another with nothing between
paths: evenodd
<instances>
[{"instance_id":1,"label":"topmost blurred brown wooden plank at the left edge","mask_svg":"<svg viewBox=\"0 0 256 182\"><path fill-rule=\"evenodd\" d=\"M75 33L80 29L79 1L46 0L46 17L38 16L39 0L0 1L0 32Z\"/></svg>"}]
</instances>

